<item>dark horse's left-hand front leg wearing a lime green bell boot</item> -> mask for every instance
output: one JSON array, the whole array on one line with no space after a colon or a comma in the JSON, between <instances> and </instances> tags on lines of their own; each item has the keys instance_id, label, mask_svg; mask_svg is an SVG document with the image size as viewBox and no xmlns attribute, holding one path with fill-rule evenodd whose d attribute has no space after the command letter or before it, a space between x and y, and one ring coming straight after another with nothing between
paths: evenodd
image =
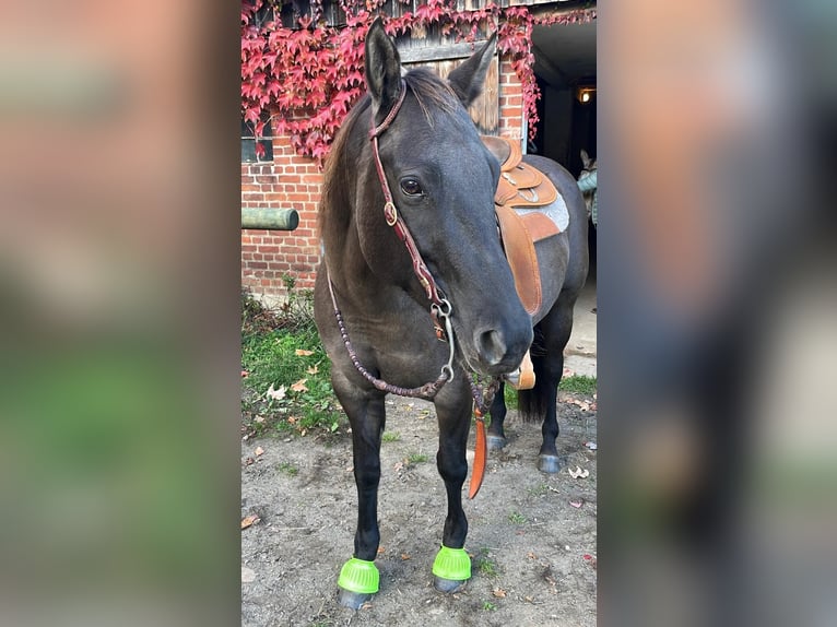
<instances>
[{"instance_id":1,"label":"dark horse's left-hand front leg wearing a lime green bell boot","mask_svg":"<svg viewBox=\"0 0 837 627\"><path fill-rule=\"evenodd\" d=\"M357 487L357 528L354 554L343 565L338 578L339 601L359 608L378 591L380 576L375 566L380 531L378 530L378 484L380 483L380 438L386 422L384 394L380 392L339 391L340 403L352 425L354 478Z\"/></svg>"}]
</instances>

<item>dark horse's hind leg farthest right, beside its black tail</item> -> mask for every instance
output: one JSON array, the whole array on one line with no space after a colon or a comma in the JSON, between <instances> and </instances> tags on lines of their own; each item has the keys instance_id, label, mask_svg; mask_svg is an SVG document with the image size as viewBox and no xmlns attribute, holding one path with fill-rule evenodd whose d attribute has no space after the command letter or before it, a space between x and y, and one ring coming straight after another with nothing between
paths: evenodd
<instances>
[{"instance_id":1,"label":"dark horse's hind leg farthest right, beside its black tail","mask_svg":"<svg viewBox=\"0 0 837 627\"><path fill-rule=\"evenodd\" d=\"M540 351L532 351L535 383L531 390L518 393L520 414L526 422L543 419L543 441L538 454L538 469L554 474L561 470L555 447L558 437L557 395L558 383L564 374L564 347L573 331L573 307L576 295L562 293L555 306L538 324L543 342Z\"/></svg>"}]
</instances>

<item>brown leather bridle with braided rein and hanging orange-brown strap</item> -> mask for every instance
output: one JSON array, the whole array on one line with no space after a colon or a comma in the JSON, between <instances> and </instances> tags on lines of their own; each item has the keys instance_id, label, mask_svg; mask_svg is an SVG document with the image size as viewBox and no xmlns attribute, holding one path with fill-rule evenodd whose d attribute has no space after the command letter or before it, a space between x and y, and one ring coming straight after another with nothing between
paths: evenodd
<instances>
[{"instance_id":1,"label":"brown leather bridle with braided rein and hanging orange-brown strap","mask_svg":"<svg viewBox=\"0 0 837 627\"><path fill-rule=\"evenodd\" d=\"M392 230L396 233L398 238L406 247L406 251L410 255L410 259L413 264L413 273L418 279L418 282L422 284L427 299L431 301L431 318L436 331L436 338L447 342L450 345L448 362L441 367L439 376L436 378L436 380L427 382L418 388L401 388L399 386L388 383L382 379L378 379L372 372L369 372L363 366L363 364L361 364L361 360L357 357L357 353L355 352L354 347L352 346L352 342L349 339L349 332L346 331L345 322L343 321L343 315L340 311L337 297L334 296L334 287L331 283L328 265L326 267L326 273L328 276L331 303L334 306L334 318L337 318L338 328L340 329L340 335L343 339L343 344L345 345L346 352L349 353L349 358L352 360L352 364L357 369L357 371L377 390L382 392L397 394L399 397L417 398L426 401L432 401L436 394L438 394L439 390L441 390L445 383L453 379L453 355L456 353L456 338L453 335L453 326L450 322L450 317L453 314L453 306L450 304L450 300L447 299L441 288L436 284L436 281L434 280L433 274L431 274L427 264L424 262L424 259L422 259L422 253L418 251L418 247L415 245L415 240L413 239L410 229L406 227L406 224L404 224L404 221L401 220L401 216L398 213L398 209L393 202L392 191L389 188L387 175L384 171L384 164L380 161L380 153L378 150L378 138L390 127L392 121L396 119L399 110L401 110L401 105L403 105L405 96L406 83L402 79L401 93L398 97L398 100L392 106L392 109L390 109L389 114L387 114L387 117L384 118L384 121L376 127L375 114L374 111L370 114L372 128L369 129L369 141L372 142L375 168L378 173L378 180L380 181L381 191L384 193L384 217L387 222L387 225L392 227ZM483 477L485 475L485 458L487 457L487 443L485 439L485 414L488 412L488 407L491 406L491 402L494 399L494 394L499 389L499 379L493 379L482 389L473 380L470 381L470 385L471 397L473 398L474 403L474 419L476 422L476 443L474 450L474 465L473 472L471 473L471 484L469 486L468 498L474 498L476 493L480 490L480 486L482 485Z\"/></svg>"}]
</instances>

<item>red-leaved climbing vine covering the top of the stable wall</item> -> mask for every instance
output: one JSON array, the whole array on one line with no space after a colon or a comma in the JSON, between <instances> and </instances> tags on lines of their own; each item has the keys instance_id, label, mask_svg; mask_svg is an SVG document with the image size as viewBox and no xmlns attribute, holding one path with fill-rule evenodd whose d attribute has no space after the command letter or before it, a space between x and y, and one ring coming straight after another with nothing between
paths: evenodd
<instances>
[{"instance_id":1,"label":"red-leaved climbing vine covering the top of the stable wall","mask_svg":"<svg viewBox=\"0 0 837 627\"><path fill-rule=\"evenodd\" d=\"M329 0L310 0L304 12L292 0L241 1L241 115L256 138L268 118L273 133L287 135L297 153L322 163L352 105L366 91L364 39L384 0L333 0L345 24L329 25ZM523 113L534 135L540 90L532 70L532 28L537 24L590 22L596 9L537 16L527 7L457 11L456 0L428 0L414 11L410 0L390 0L404 11L388 17L387 32L398 36L437 27L443 35L473 42L497 29L497 48L511 62L523 90ZM291 25L287 25L291 24ZM257 154L263 147L257 143Z\"/></svg>"}]
</instances>

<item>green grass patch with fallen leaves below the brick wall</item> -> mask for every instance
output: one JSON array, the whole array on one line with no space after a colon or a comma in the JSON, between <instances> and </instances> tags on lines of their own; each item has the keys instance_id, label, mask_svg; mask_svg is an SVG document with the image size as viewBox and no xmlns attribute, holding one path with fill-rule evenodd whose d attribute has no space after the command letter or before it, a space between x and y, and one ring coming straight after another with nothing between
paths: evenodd
<instances>
[{"instance_id":1,"label":"green grass patch with fallen leaves below the brick wall","mask_svg":"<svg viewBox=\"0 0 837 627\"><path fill-rule=\"evenodd\" d=\"M305 298L295 296L296 309L303 310L299 300ZM241 369L248 372L241 409L245 415L262 417L249 425L252 433L337 431L342 413L331 389L331 363L313 319L287 311L273 316L247 295L241 303ZM267 398L271 386L282 398Z\"/></svg>"}]
</instances>

